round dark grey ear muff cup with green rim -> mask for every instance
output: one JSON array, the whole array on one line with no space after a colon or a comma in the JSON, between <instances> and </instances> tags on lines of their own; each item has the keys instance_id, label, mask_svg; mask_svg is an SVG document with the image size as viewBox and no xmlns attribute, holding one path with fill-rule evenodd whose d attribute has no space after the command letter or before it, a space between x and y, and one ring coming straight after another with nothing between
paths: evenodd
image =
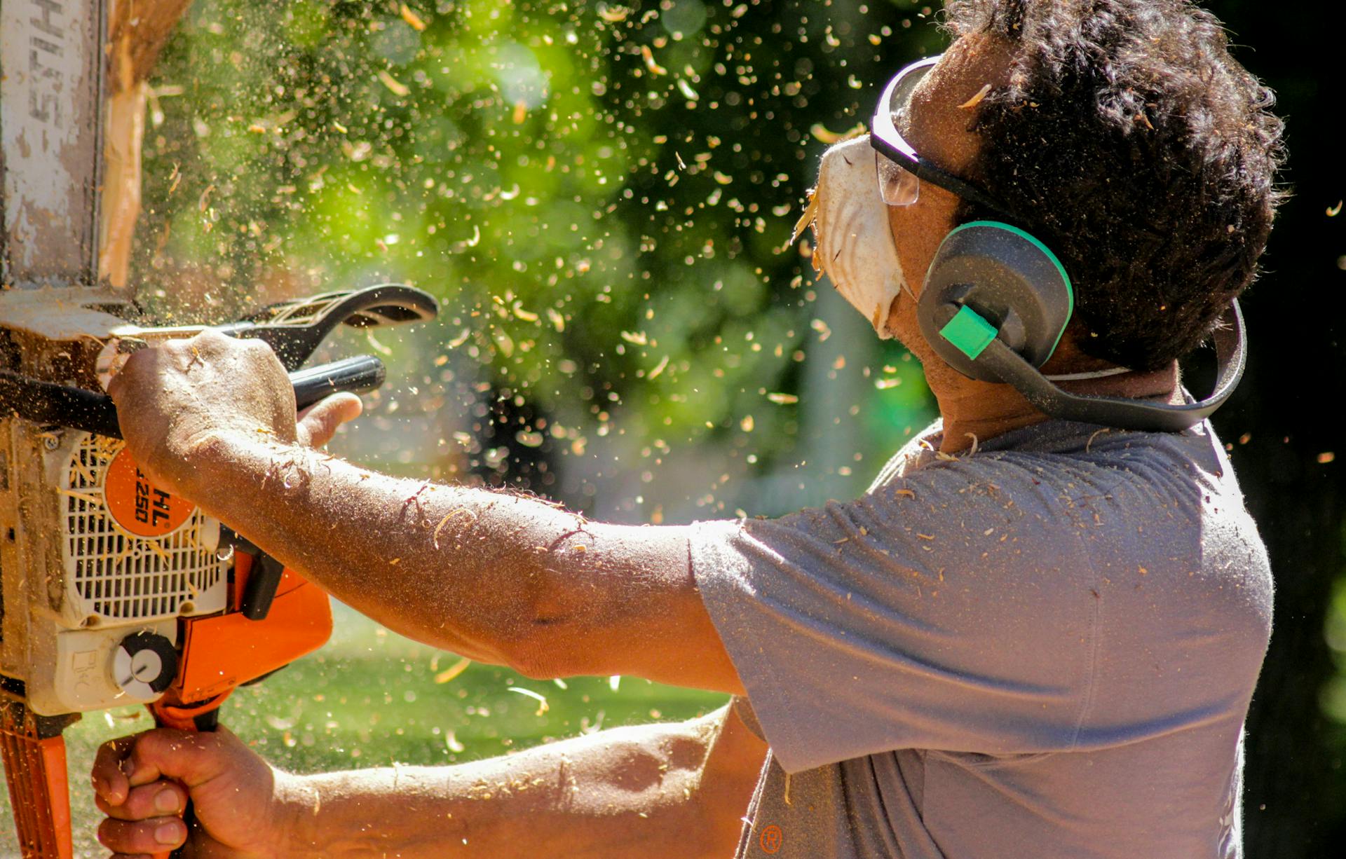
<instances>
[{"instance_id":1,"label":"round dark grey ear muff cup with green rim","mask_svg":"<svg viewBox=\"0 0 1346 859\"><path fill-rule=\"evenodd\" d=\"M953 336L950 320L964 306L989 324L981 327L987 336L1040 367L1061 341L1074 296L1065 266L1046 245L1007 223L975 220L949 233L935 251L917 319L926 343L954 370L1003 382L979 366L976 344Z\"/></svg>"}]
</instances>

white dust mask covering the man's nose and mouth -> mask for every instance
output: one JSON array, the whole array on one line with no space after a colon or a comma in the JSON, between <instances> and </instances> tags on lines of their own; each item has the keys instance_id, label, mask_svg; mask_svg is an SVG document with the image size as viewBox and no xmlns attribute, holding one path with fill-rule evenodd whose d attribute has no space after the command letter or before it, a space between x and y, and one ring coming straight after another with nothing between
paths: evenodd
<instances>
[{"instance_id":1,"label":"white dust mask covering the man's nose and mouth","mask_svg":"<svg viewBox=\"0 0 1346 859\"><path fill-rule=\"evenodd\" d=\"M818 246L813 270L826 274L837 292L870 320L880 339L888 331L888 308L903 289L911 294L888 229L888 206L879 196L868 134L839 142L822 156L818 184L791 241L810 223ZM914 297L914 296L913 296Z\"/></svg>"}]
</instances>

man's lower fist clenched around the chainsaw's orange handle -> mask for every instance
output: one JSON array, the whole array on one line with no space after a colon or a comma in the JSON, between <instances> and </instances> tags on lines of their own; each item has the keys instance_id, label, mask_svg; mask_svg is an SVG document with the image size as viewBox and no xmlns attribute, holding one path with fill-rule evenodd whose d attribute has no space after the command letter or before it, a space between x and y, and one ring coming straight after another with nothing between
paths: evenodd
<instances>
[{"instance_id":1,"label":"man's lower fist clenched around the chainsaw's orange handle","mask_svg":"<svg viewBox=\"0 0 1346 859\"><path fill-rule=\"evenodd\" d=\"M284 855L288 780L226 729L113 739L93 765L94 801L108 815L98 840L117 856L175 850L188 836L180 815L190 794L197 823L188 856Z\"/></svg>"}]
</instances>

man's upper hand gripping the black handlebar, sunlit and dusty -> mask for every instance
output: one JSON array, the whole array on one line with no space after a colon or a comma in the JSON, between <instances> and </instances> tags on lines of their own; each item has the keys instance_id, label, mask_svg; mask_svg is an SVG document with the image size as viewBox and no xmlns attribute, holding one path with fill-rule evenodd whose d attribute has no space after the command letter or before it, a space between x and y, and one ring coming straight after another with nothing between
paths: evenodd
<instances>
[{"instance_id":1,"label":"man's upper hand gripping the black handlebar, sunlit and dusty","mask_svg":"<svg viewBox=\"0 0 1346 859\"><path fill-rule=\"evenodd\" d=\"M203 477L191 462L202 445L229 436L297 440L293 387L261 340L205 331L141 350L108 393L136 462L187 497Z\"/></svg>"}]
</instances>

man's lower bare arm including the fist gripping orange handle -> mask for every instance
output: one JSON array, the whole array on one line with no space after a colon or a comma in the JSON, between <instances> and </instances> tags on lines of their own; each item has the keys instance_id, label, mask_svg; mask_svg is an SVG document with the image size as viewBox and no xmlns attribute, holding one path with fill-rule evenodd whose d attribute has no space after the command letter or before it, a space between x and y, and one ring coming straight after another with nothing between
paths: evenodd
<instances>
[{"instance_id":1,"label":"man's lower bare arm including the fist gripping orange handle","mask_svg":"<svg viewBox=\"0 0 1346 859\"><path fill-rule=\"evenodd\" d=\"M320 776L273 770L227 731L153 730L100 749L93 782L100 839L125 855L182 843L167 815L186 785L211 856L719 859L765 757L725 707L459 766Z\"/></svg>"}]
</instances>

